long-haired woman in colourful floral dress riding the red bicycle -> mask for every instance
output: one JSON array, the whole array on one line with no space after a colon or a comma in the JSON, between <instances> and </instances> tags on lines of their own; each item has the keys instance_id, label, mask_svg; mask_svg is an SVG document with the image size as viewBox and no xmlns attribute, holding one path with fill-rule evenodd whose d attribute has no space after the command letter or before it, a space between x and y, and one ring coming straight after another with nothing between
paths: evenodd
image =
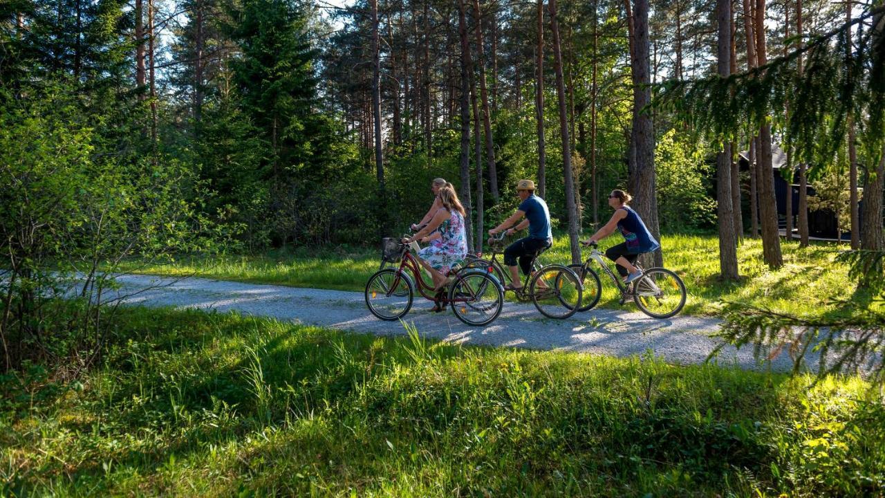
<instances>
[{"instance_id":1,"label":"long-haired woman in colourful floral dress riding the red bicycle","mask_svg":"<svg viewBox=\"0 0 885 498\"><path fill-rule=\"evenodd\" d=\"M418 259L430 271L434 290L439 293L452 280L447 277L451 268L464 261L467 255L467 237L464 230L464 206L461 206L455 189L443 186L438 189L437 198L440 208L424 228L413 237L404 238L403 243L411 244L415 240L429 242L418 252ZM444 303L441 305L437 302L433 311L443 311L444 308Z\"/></svg>"}]
</instances>

